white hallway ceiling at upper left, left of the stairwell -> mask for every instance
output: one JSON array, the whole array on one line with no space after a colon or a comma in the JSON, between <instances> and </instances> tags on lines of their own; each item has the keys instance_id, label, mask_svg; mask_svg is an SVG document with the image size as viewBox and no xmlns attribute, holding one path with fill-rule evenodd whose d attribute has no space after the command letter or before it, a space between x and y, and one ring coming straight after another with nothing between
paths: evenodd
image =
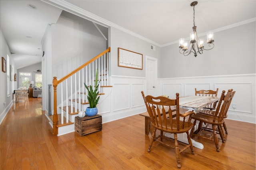
<instances>
[{"instance_id":1,"label":"white hallway ceiling at upper left, left of the stairwell","mask_svg":"<svg viewBox=\"0 0 256 170\"><path fill-rule=\"evenodd\" d=\"M41 62L42 37L47 25L56 23L61 11L40 0L0 0L1 30L14 53L12 59L17 69Z\"/></svg>"}]
</instances>

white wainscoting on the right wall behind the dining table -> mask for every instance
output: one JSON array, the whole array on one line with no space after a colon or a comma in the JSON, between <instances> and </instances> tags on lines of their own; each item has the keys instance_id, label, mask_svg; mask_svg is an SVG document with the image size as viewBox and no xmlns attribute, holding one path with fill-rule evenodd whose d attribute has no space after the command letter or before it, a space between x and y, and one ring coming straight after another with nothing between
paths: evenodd
<instances>
[{"instance_id":1,"label":"white wainscoting on the right wall behind the dining table","mask_svg":"<svg viewBox=\"0 0 256 170\"><path fill-rule=\"evenodd\" d=\"M158 84L158 95L164 94L169 97L177 92L180 96L195 95L195 88L219 88L220 97L222 90L234 89L236 94L228 110L227 119L256 123L256 74L164 78L158 79ZM180 84L181 92L176 87L177 84ZM236 109L232 108L232 104L236 104Z\"/></svg>"}]
</instances>

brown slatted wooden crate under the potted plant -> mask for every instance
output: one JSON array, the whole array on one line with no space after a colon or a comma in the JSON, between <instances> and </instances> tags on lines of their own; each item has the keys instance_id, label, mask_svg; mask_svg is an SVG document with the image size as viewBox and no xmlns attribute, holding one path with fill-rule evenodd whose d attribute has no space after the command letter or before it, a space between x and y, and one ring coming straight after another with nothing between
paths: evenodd
<instances>
[{"instance_id":1,"label":"brown slatted wooden crate under the potted plant","mask_svg":"<svg viewBox=\"0 0 256 170\"><path fill-rule=\"evenodd\" d=\"M83 118L75 117L75 131L80 135L84 136L93 132L102 130L102 117L101 115L96 116L85 116Z\"/></svg>"}]
</instances>

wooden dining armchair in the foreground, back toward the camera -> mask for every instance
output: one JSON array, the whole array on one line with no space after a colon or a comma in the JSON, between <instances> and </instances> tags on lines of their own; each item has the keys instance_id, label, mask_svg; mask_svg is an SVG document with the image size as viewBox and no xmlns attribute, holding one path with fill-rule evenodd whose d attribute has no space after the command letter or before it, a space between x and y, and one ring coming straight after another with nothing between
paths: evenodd
<instances>
[{"instance_id":1,"label":"wooden dining armchair in the foreground, back toward the camera","mask_svg":"<svg viewBox=\"0 0 256 170\"><path fill-rule=\"evenodd\" d=\"M179 93L176 93L176 99L169 99L163 96L153 97L151 95L145 97L144 92L142 91L141 93L148 114L150 116L151 126L153 127L153 133L150 139L150 144L148 146L148 152L150 152L154 141L169 146L171 148L175 148L177 166L178 168L181 168L180 153L187 148L190 148L192 154L194 154L193 144L188 131L193 126L193 123L191 123L191 116L195 113L192 111L183 114L180 113ZM174 118L172 117L171 106L176 106L176 117ZM183 118L183 120L180 121L180 118ZM160 135L156 136L156 130L160 130ZM174 134L174 147L170 145L170 142L166 141L173 139L164 136L164 132ZM188 136L188 144L185 144L185 146L180 149L177 140L177 134L185 132ZM158 138L160 138L160 140Z\"/></svg>"}]
</instances>

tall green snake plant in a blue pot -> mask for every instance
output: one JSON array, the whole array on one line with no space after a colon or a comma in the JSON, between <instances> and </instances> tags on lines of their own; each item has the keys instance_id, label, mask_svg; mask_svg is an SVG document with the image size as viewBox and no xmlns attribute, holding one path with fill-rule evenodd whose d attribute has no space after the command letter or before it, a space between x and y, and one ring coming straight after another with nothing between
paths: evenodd
<instances>
[{"instance_id":1,"label":"tall green snake plant in a blue pot","mask_svg":"<svg viewBox=\"0 0 256 170\"><path fill-rule=\"evenodd\" d=\"M86 115L87 116L95 116L98 114L97 104L100 99L98 87L99 87L100 81L98 82L98 69L96 70L96 77L95 77L95 89L90 85L89 87L84 83L85 88L88 91L87 99L89 102L90 107L86 108Z\"/></svg>"}]
</instances>

